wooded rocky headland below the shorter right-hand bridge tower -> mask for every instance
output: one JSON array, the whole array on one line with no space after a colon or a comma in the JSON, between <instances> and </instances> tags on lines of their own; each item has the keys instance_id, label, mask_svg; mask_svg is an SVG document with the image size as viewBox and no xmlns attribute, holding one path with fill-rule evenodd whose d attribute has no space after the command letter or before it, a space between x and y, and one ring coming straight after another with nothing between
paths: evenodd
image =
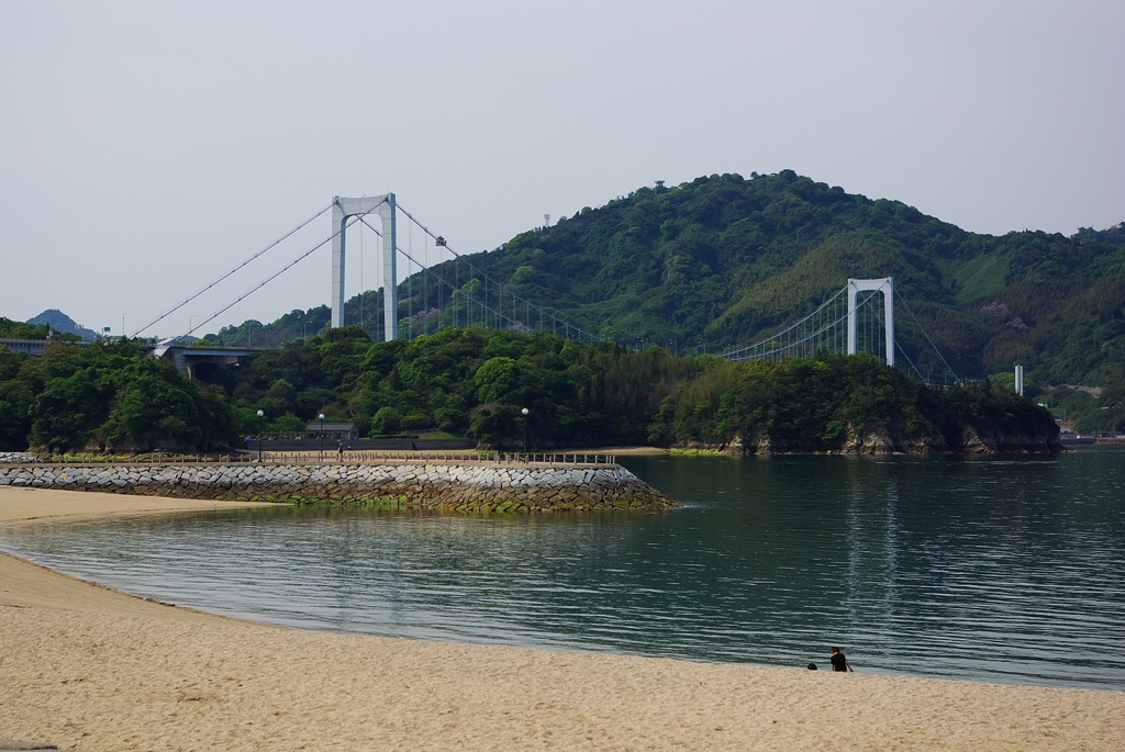
<instances>
[{"instance_id":1,"label":"wooded rocky headland below the shorter right-hand bridge tower","mask_svg":"<svg viewBox=\"0 0 1125 752\"><path fill-rule=\"evenodd\" d=\"M746 452L962 451L1056 444L1051 414L988 382L929 386L871 355L735 364L711 359L660 405L649 437L662 445Z\"/></svg>"}]
</instances>

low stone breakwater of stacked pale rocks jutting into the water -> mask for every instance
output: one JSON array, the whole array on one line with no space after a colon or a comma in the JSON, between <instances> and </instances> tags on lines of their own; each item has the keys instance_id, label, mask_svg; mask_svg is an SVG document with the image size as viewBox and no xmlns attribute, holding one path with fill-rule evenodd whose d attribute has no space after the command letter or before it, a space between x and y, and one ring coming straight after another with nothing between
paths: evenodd
<instances>
[{"instance_id":1,"label":"low stone breakwater of stacked pale rocks jutting into the water","mask_svg":"<svg viewBox=\"0 0 1125 752\"><path fill-rule=\"evenodd\" d=\"M593 511L680 506L616 464L0 466L2 486L446 511Z\"/></svg>"}]
</instances>

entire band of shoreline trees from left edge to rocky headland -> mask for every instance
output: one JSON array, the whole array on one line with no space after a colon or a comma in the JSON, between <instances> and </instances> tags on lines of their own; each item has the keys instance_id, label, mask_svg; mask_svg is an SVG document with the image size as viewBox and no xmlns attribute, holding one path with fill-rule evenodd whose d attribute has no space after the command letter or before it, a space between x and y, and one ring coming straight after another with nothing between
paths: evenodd
<instances>
[{"instance_id":1,"label":"entire band of shoreline trees from left edge to rocky headland","mask_svg":"<svg viewBox=\"0 0 1125 752\"><path fill-rule=\"evenodd\" d=\"M873 432L957 449L970 428L1054 429L1008 392L930 388L865 356L734 364L479 328L372 342L343 327L198 372L188 381L135 341L57 342L37 357L0 347L0 449L209 451L300 431L320 414L362 436L441 432L507 449L524 437L536 449L740 438L839 451Z\"/></svg>"}]
</instances>

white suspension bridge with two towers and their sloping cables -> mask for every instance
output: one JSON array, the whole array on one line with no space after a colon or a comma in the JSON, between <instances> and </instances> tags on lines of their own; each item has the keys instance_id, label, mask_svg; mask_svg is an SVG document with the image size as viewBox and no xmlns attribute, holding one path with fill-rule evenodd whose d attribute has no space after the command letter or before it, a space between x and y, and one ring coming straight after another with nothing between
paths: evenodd
<instances>
[{"instance_id":1,"label":"white suspension bridge with two towers and their sloping cables","mask_svg":"<svg viewBox=\"0 0 1125 752\"><path fill-rule=\"evenodd\" d=\"M210 316L190 317L189 329L186 333L163 342L171 345L189 338L195 332L206 327L325 246L331 246L332 263L328 326L333 328L344 326L349 320L344 307L345 261L350 229L353 235L356 229L359 230L361 263L364 255L362 245L364 233L370 232L379 238L379 288L374 291L374 296L369 291L361 290L358 297L361 306L366 305L367 298L374 297L377 310L381 309L381 321L377 319L375 333L377 336L381 335L385 341L413 339L442 327L472 326L520 332L551 332L569 339L587 342L601 339L596 334L566 320L556 311L528 300L482 271L469 256L457 253L444 237L431 232L418 221L398 203L394 193L359 198L334 197L315 215L142 326L133 333L133 336L144 334L188 306L194 303L198 306L197 301L205 293L278 248L284 242L330 211L331 224L327 235L320 237L310 247L302 248L296 259L285 263ZM404 233L399 227L400 217L407 223L405 243L402 242ZM352 239L354 241L354 237ZM908 314L907 320L916 325L916 333L910 338L911 347L909 347L914 354L908 352L908 347L896 336L897 306L902 306ZM197 318L200 319L198 323ZM890 278L849 279L846 287L811 314L781 327L775 334L754 344L722 351L720 356L731 361L776 362L793 356L811 357L821 353L861 352L872 353L892 366L901 364L926 380L930 380L934 373L942 374L940 378L946 381L951 378L956 380L952 368L921 328L909 306L901 296L896 297L894 284Z\"/></svg>"}]
</instances>

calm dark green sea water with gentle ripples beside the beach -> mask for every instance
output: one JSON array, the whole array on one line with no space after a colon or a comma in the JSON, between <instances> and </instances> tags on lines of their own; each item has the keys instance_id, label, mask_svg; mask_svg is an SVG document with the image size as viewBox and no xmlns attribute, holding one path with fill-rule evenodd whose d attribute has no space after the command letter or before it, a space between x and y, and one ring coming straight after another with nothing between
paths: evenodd
<instances>
[{"instance_id":1,"label":"calm dark green sea water with gentle ripples beside the beach","mask_svg":"<svg viewBox=\"0 0 1125 752\"><path fill-rule=\"evenodd\" d=\"M1125 451L623 457L685 507L269 508L0 528L129 592L314 629L1125 689Z\"/></svg>"}]
</instances>

